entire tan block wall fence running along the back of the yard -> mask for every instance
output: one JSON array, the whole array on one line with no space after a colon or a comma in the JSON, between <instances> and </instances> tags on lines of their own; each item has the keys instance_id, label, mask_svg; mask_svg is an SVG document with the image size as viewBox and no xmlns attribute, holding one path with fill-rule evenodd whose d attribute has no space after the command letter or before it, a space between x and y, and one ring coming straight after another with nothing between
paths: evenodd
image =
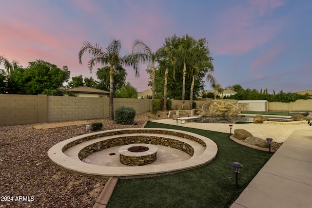
<instances>
[{"instance_id":1,"label":"entire tan block wall fence running along the back of the yard","mask_svg":"<svg viewBox=\"0 0 312 208\"><path fill-rule=\"evenodd\" d=\"M197 107L201 107L208 100L212 99L195 102ZM172 107L178 103L181 100L173 100ZM189 105L190 101L186 100L185 103ZM152 100L114 98L114 112L119 106L133 107L137 114L141 114L152 111ZM312 99L291 103L269 102L269 111L312 112ZM108 117L108 113L108 97L0 94L0 126L103 119Z\"/></svg>"}]
</instances>

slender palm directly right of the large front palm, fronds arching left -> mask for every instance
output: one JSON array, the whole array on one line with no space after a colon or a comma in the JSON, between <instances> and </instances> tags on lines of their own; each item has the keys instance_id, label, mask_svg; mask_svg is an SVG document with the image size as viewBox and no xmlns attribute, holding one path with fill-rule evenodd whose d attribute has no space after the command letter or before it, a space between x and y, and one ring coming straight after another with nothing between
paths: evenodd
<instances>
[{"instance_id":1,"label":"slender palm directly right of the large front palm, fronds arching left","mask_svg":"<svg viewBox=\"0 0 312 208\"><path fill-rule=\"evenodd\" d=\"M157 53L157 52L156 52ZM152 67L152 99L155 99L155 60L156 53L154 53L148 45L146 45L142 40L136 39L133 42L132 54L136 55L138 60L142 63L149 63Z\"/></svg>"}]
</instances>

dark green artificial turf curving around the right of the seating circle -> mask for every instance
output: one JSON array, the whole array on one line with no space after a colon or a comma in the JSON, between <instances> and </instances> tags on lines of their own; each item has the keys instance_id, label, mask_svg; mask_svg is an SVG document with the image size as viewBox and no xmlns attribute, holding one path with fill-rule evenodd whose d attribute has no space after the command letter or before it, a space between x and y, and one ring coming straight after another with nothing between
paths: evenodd
<instances>
[{"instance_id":1,"label":"dark green artificial turf curving around the right of the seating circle","mask_svg":"<svg viewBox=\"0 0 312 208\"><path fill-rule=\"evenodd\" d=\"M211 163L194 170L118 180L109 208L228 208L273 155L239 145L229 138L229 133L154 122L148 122L145 127L201 134L217 144L217 155ZM243 165L238 176L238 189L231 166L234 161Z\"/></svg>"}]
</instances>

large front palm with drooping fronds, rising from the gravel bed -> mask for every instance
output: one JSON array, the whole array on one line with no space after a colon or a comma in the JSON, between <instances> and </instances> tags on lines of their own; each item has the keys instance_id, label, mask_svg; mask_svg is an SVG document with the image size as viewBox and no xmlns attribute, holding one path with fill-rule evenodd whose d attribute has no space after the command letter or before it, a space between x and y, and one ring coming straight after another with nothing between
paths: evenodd
<instances>
[{"instance_id":1,"label":"large front palm with drooping fronds, rising from the gravel bed","mask_svg":"<svg viewBox=\"0 0 312 208\"><path fill-rule=\"evenodd\" d=\"M108 44L106 48L106 52L102 50L102 47L96 43L94 46L88 42L83 42L83 45L78 53L79 63L81 62L81 57L84 52L88 52L92 55L91 59L88 62L88 68L90 72L92 72L93 66L96 64L101 64L102 66L109 65L109 77L110 77L110 91L109 91L109 120L114 120L114 69L117 69L118 66L132 66L135 70L136 76L139 76L139 68L138 68L138 59L137 56L133 55L125 55L121 57L119 55L121 49L120 40L116 40L115 38Z\"/></svg>"}]
</instances>

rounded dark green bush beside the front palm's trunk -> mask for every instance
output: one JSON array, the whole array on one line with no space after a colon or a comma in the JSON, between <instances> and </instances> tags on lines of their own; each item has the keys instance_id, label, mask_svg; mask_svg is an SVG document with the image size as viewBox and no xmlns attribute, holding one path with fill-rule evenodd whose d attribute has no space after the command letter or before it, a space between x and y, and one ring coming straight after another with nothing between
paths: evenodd
<instances>
[{"instance_id":1,"label":"rounded dark green bush beside the front palm's trunk","mask_svg":"<svg viewBox=\"0 0 312 208\"><path fill-rule=\"evenodd\" d=\"M133 124L136 117L136 110L132 107L120 106L115 111L117 124Z\"/></svg>"}]
</instances>

